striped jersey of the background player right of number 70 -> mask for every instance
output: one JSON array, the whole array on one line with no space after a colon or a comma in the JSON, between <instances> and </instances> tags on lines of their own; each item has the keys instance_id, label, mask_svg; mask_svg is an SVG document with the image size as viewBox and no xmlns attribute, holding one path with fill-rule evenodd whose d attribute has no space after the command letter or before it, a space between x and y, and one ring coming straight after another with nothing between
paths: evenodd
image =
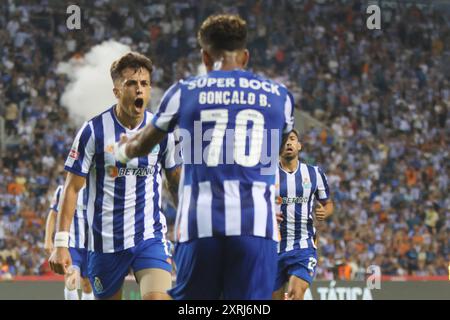
<instances>
[{"instance_id":1,"label":"striped jersey of the background player right of number 70","mask_svg":"<svg viewBox=\"0 0 450 320\"><path fill-rule=\"evenodd\" d=\"M276 203L277 211L283 214L283 221L279 226L279 253L316 248L314 200L327 200L329 197L327 177L319 167L299 161L297 169L288 173L279 165L276 175Z\"/></svg>"}]
</instances>

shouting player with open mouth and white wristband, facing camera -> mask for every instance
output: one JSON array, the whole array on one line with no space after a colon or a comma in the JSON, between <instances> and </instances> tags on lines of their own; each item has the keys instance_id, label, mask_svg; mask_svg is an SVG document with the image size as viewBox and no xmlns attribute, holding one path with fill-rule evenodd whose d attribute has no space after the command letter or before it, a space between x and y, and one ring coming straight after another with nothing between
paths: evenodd
<instances>
[{"instance_id":1,"label":"shouting player with open mouth and white wristband, facing camera","mask_svg":"<svg viewBox=\"0 0 450 320\"><path fill-rule=\"evenodd\" d=\"M114 159L121 134L133 135L153 115L150 99L152 62L128 53L111 66L117 104L86 122L78 132L65 163L68 171L61 214L50 257L52 269L64 274L71 264L68 231L81 188L86 184L88 275L97 299L121 299L131 269L143 299L168 299L172 285L171 256L161 206L161 170L177 196L180 167L173 135L127 165ZM151 152L150 152L151 151Z\"/></svg>"}]
</instances>

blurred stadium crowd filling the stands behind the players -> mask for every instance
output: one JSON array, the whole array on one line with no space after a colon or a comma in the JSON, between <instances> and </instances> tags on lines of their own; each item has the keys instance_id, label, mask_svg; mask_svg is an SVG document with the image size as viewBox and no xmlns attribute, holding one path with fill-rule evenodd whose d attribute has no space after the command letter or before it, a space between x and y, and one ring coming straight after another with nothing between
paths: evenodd
<instances>
[{"instance_id":1,"label":"blurred stadium crowd filling the stands behind the players","mask_svg":"<svg viewBox=\"0 0 450 320\"><path fill-rule=\"evenodd\" d=\"M324 168L336 206L317 225L318 279L363 279L369 265L447 275L450 12L390 9L368 30L359 1L95 0L80 2L82 29L69 32L61 4L21 3L0 4L0 279L49 271L45 218L77 130L58 63L112 38L151 57L152 85L165 90L197 73L198 23L220 11L248 21L249 67L324 124L304 133L301 153Z\"/></svg>"}]
</instances>

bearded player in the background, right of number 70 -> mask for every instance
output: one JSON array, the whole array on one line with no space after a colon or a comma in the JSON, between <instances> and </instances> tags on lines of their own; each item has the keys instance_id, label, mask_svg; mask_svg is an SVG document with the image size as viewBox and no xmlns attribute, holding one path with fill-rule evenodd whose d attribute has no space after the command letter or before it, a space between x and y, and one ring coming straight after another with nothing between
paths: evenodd
<instances>
[{"instance_id":1,"label":"bearded player in the background, right of number 70","mask_svg":"<svg viewBox=\"0 0 450 320\"><path fill-rule=\"evenodd\" d=\"M299 134L294 129L282 145L276 175L280 242L272 297L277 300L285 298L286 283L287 299L303 300L316 273L314 216L323 221L333 213L325 173L319 167L300 162L301 149Z\"/></svg>"}]
</instances>

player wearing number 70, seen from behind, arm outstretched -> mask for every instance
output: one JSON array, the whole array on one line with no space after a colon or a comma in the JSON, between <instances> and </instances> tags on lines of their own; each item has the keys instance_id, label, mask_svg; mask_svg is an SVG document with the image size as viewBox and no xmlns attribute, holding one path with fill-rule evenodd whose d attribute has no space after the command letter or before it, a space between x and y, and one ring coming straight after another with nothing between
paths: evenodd
<instances>
[{"instance_id":1,"label":"player wearing number 70, seen from behind, arm outstretched","mask_svg":"<svg viewBox=\"0 0 450 320\"><path fill-rule=\"evenodd\" d=\"M147 154L176 126L186 135L171 297L271 299L278 239L275 171L282 134L293 126L294 102L285 86L244 70L247 25L240 17L208 17L198 40L207 74L169 88L152 123L116 145L116 158L127 162ZM276 151L268 151L273 166L261 161L265 131L278 135L271 141ZM205 132L210 143L201 143L208 139ZM198 154L200 161L193 163Z\"/></svg>"}]
</instances>

